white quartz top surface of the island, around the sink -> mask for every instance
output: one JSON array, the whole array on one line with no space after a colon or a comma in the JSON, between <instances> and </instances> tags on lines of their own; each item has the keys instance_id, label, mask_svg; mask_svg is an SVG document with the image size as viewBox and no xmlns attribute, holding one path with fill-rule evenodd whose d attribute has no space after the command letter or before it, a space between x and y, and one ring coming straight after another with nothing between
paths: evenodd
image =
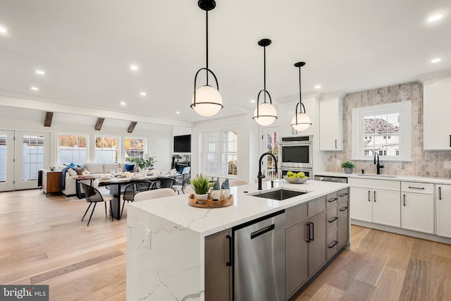
<instances>
[{"instance_id":1,"label":"white quartz top surface of the island, around the sink","mask_svg":"<svg viewBox=\"0 0 451 301\"><path fill-rule=\"evenodd\" d=\"M303 202L308 202L316 197L327 195L349 185L342 183L321 182L308 180L303 184L291 184L285 180L276 180L274 188L271 182L263 183L263 190L275 190L277 188L288 188L290 190L301 190L309 193L291 197L283 201L254 197L249 193L258 192L257 183L230 188L233 195L233 205L224 208L204 209L191 207L188 204L188 195L175 195L174 197L163 197L160 199L149 199L142 202L133 202L128 206L136 207L142 211L159 216L163 219L180 225L180 229L189 228L207 236L227 228L252 221L261 216L266 216L282 209L293 207Z\"/></svg>"}]
</instances>

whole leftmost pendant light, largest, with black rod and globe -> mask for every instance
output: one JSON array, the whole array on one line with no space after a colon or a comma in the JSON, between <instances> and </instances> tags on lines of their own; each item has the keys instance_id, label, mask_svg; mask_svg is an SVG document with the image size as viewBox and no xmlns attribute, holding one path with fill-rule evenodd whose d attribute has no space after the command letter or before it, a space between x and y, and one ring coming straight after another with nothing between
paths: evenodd
<instances>
[{"instance_id":1,"label":"whole leftmost pendant light, largest, with black rod and globe","mask_svg":"<svg viewBox=\"0 0 451 301\"><path fill-rule=\"evenodd\" d=\"M211 117L223 109L223 98L219 93L218 80L213 71L209 69L209 11L216 7L216 2L214 0L199 0L197 5L205 11L206 15L206 68L197 70L196 76L194 77L194 94L192 95L191 107L200 116ZM196 90L197 75L201 70L205 70L206 85ZM216 88L209 85L209 73L214 77Z\"/></svg>"}]
</instances>

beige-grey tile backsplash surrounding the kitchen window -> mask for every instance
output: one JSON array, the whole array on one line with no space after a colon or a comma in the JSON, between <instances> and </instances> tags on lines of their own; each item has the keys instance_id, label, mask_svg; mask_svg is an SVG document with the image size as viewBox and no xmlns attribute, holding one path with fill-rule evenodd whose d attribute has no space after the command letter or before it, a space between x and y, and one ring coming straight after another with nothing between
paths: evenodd
<instances>
[{"instance_id":1,"label":"beige-grey tile backsplash surrounding the kitchen window","mask_svg":"<svg viewBox=\"0 0 451 301\"><path fill-rule=\"evenodd\" d=\"M323 170L343 172L337 164L351 158L352 109L378 104L412 101L412 161L383 161L381 173L399 176L427 176L451 178L451 169L445 169L445 161L451 161L451 151L423 150L423 85L407 82L400 85L347 94L343 101L343 151L321 152ZM354 161L354 173L376 173L373 161Z\"/></svg>"}]
</instances>

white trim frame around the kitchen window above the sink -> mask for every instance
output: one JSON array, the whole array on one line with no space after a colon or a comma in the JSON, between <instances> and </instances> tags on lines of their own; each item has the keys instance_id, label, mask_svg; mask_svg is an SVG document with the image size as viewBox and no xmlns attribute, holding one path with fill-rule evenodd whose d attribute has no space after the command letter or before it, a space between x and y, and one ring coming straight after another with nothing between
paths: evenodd
<instances>
[{"instance_id":1,"label":"white trim frame around the kitchen window above the sink","mask_svg":"<svg viewBox=\"0 0 451 301\"><path fill-rule=\"evenodd\" d=\"M363 135L362 125L363 118L368 114L384 114L400 112L400 145L402 151L400 156L387 156L384 161L412 161L412 102L395 102L393 104L381 104L378 106L364 106L362 108L352 109L352 160L372 160L372 158L364 157L361 143ZM363 137L363 136L362 136Z\"/></svg>"}]
</instances>

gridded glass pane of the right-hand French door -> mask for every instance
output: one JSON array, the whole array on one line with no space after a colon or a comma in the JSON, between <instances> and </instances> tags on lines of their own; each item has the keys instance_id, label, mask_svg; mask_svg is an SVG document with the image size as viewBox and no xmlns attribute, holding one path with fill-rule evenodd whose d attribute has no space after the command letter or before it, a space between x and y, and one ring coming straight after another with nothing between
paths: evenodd
<instances>
[{"instance_id":1,"label":"gridded glass pane of the right-hand French door","mask_svg":"<svg viewBox=\"0 0 451 301\"><path fill-rule=\"evenodd\" d=\"M23 135L22 180L37 180L37 171L44 168L44 136Z\"/></svg>"}]
</instances>

